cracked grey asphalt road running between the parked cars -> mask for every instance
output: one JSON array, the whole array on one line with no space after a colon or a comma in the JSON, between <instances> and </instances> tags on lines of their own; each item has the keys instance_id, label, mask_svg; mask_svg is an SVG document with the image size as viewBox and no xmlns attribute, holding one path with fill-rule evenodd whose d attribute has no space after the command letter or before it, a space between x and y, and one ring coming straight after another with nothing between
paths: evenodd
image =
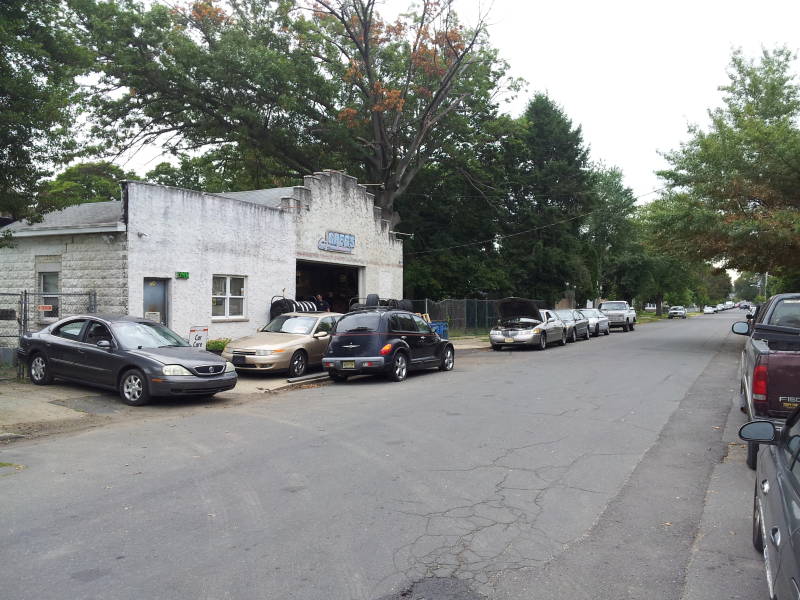
<instances>
[{"instance_id":1,"label":"cracked grey asphalt road running between the parked cars","mask_svg":"<svg viewBox=\"0 0 800 600\"><path fill-rule=\"evenodd\" d=\"M741 317L5 446L0 596L761 597L746 536L701 544Z\"/></svg>"}]
</instances>

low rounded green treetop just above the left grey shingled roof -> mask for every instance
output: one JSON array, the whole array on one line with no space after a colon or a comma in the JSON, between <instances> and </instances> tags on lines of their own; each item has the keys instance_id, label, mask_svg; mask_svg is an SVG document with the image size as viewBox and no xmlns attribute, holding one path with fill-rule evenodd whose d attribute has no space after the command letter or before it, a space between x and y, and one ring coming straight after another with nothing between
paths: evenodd
<instances>
[{"instance_id":1,"label":"low rounded green treetop just above the left grey shingled roof","mask_svg":"<svg viewBox=\"0 0 800 600\"><path fill-rule=\"evenodd\" d=\"M119 200L119 182L124 179L139 178L105 161L78 163L59 173L54 180L44 182L38 203L40 207L54 210L72 204Z\"/></svg>"}]
</instances>

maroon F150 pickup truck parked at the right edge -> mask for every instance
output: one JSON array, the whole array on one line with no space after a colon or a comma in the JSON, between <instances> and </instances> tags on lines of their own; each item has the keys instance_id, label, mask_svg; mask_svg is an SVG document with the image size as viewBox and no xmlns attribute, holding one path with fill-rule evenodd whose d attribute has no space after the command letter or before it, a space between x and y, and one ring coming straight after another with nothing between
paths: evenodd
<instances>
[{"instance_id":1,"label":"maroon F150 pickup truck parked at the right edge","mask_svg":"<svg viewBox=\"0 0 800 600\"><path fill-rule=\"evenodd\" d=\"M750 420L786 419L800 406L800 293L772 296L734 333L746 335L739 361L739 396ZM747 465L756 468L758 443L748 442Z\"/></svg>"}]
</instances>

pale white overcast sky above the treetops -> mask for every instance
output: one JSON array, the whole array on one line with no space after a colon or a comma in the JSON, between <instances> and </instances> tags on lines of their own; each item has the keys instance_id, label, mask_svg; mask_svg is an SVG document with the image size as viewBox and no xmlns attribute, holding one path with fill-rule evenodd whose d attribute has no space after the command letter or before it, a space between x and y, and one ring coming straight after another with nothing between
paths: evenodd
<instances>
[{"instance_id":1,"label":"pale white overcast sky above the treetops","mask_svg":"<svg viewBox=\"0 0 800 600\"><path fill-rule=\"evenodd\" d=\"M380 2L380 0L379 0ZM408 6L382 2L386 17ZM583 128L591 158L620 167L643 201L661 187L659 151L678 148L687 125L707 123L734 48L800 48L800 2L789 0L456 0L466 25L491 5L492 44L527 90L505 106L519 115L545 91ZM140 174L158 162L145 148L127 164Z\"/></svg>"}]
</instances>

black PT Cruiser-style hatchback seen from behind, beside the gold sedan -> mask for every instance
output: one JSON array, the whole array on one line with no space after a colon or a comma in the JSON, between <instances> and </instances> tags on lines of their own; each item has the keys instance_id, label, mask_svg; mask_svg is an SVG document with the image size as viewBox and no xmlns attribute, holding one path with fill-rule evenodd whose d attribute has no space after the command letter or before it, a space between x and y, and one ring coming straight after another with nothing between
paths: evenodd
<instances>
[{"instance_id":1,"label":"black PT Cruiser-style hatchback seen from behind, beside the gold sedan","mask_svg":"<svg viewBox=\"0 0 800 600\"><path fill-rule=\"evenodd\" d=\"M380 308L347 313L336 323L322 366L334 381L350 375L382 373L403 381L409 370L455 363L453 345L419 315Z\"/></svg>"}]
</instances>

